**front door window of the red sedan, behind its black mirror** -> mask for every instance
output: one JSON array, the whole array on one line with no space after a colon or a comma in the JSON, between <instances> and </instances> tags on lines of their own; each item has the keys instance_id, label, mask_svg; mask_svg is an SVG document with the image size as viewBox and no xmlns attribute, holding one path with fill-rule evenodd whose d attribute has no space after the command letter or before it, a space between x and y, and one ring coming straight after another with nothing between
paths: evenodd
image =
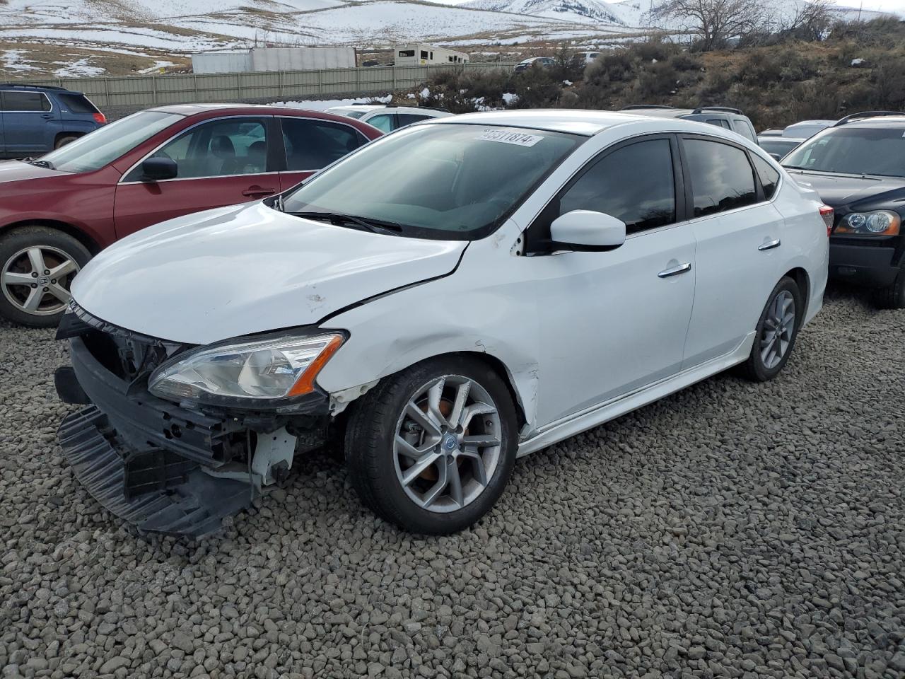
<instances>
[{"instance_id":1,"label":"front door window of the red sedan, behind its black mirror","mask_svg":"<svg viewBox=\"0 0 905 679\"><path fill-rule=\"evenodd\" d=\"M154 152L178 166L177 179L255 175L267 171L267 124L263 119L211 120L187 130ZM126 181L137 181L136 167Z\"/></svg>"}]
</instances>

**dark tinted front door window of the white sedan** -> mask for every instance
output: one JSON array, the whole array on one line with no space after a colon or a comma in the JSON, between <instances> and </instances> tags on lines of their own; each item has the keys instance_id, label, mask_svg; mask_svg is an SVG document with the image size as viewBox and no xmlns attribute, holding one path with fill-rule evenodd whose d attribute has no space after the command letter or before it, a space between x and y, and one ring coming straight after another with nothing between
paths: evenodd
<instances>
[{"instance_id":1,"label":"dark tinted front door window of the white sedan","mask_svg":"<svg viewBox=\"0 0 905 679\"><path fill-rule=\"evenodd\" d=\"M594 210L623 220L633 234L676 217L669 139L639 141L598 160L559 200L559 215Z\"/></svg>"}]
</instances>

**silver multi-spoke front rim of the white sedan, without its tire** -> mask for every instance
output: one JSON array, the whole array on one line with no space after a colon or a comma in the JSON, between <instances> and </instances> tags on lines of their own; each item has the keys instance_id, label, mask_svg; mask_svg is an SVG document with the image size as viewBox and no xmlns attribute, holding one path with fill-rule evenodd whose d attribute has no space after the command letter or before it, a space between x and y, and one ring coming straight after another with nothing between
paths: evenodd
<instances>
[{"instance_id":1,"label":"silver multi-spoke front rim of the white sedan, without its tire","mask_svg":"<svg viewBox=\"0 0 905 679\"><path fill-rule=\"evenodd\" d=\"M418 388L395 427L396 478L429 512L474 502L500 464L500 413L484 387L446 375Z\"/></svg>"}]
</instances>

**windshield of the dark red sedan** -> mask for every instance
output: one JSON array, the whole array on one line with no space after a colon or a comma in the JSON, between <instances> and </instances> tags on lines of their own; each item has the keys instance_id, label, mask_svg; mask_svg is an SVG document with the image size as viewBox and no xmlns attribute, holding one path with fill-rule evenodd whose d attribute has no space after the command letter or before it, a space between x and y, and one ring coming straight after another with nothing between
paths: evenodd
<instances>
[{"instance_id":1,"label":"windshield of the dark red sedan","mask_svg":"<svg viewBox=\"0 0 905 679\"><path fill-rule=\"evenodd\" d=\"M91 172L128 153L182 118L176 113L159 110L133 113L51 151L38 162L63 172Z\"/></svg>"}]
</instances>

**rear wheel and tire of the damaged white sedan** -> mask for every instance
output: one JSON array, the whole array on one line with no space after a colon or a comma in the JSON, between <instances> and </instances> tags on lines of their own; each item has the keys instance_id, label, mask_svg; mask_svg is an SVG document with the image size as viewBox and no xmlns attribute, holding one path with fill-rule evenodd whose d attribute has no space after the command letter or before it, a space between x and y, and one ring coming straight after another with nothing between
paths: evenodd
<instances>
[{"instance_id":1,"label":"rear wheel and tire of the damaged white sedan","mask_svg":"<svg viewBox=\"0 0 905 679\"><path fill-rule=\"evenodd\" d=\"M785 276L770 292L767 305L757 320L754 346L748 360L740 366L746 378L766 382L786 367L792 349L795 349L804 311L798 283Z\"/></svg>"}]
</instances>

